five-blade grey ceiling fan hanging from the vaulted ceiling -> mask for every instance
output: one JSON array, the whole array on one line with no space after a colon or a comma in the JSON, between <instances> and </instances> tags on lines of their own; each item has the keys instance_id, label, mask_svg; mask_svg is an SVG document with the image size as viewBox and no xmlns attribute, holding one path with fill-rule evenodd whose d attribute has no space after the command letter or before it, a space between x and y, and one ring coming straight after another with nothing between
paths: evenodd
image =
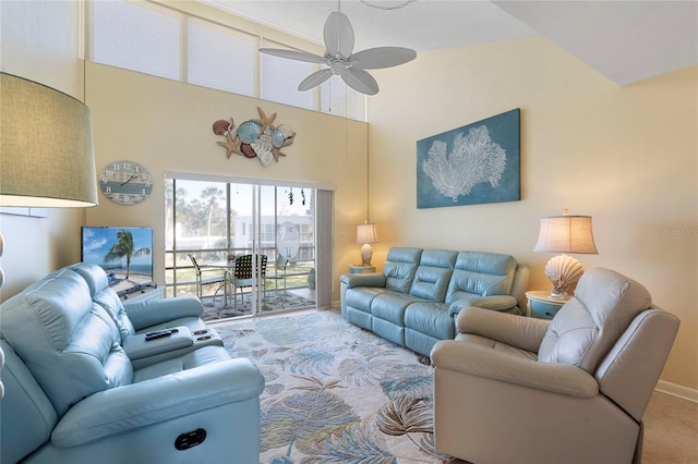
<instances>
[{"instance_id":1,"label":"five-blade grey ceiling fan hanging from the vaulted ceiling","mask_svg":"<svg viewBox=\"0 0 698 464\"><path fill-rule=\"evenodd\" d=\"M377 47L353 53L353 28L349 19L339 11L330 13L325 21L324 39L325 54L322 57L306 51L276 48L261 48L260 51L328 66L305 77L298 86L301 91L318 86L333 75L339 75L349 87L366 95L377 94L378 83L365 70L397 66L417 57L414 50L402 47Z\"/></svg>"}]
</instances>

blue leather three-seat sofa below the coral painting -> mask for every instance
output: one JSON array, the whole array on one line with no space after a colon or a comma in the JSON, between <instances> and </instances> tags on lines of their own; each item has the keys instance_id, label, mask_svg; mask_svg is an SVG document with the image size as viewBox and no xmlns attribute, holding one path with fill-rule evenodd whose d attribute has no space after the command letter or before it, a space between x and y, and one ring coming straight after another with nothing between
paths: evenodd
<instances>
[{"instance_id":1,"label":"blue leather three-seat sofa below the coral painting","mask_svg":"<svg viewBox=\"0 0 698 464\"><path fill-rule=\"evenodd\" d=\"M383 273L340 277L341 315L429 356L436 342L455 338L464 307L522 314L528 279L528 265L509 255L393 247Z\"/></svg>"}]
</instances>

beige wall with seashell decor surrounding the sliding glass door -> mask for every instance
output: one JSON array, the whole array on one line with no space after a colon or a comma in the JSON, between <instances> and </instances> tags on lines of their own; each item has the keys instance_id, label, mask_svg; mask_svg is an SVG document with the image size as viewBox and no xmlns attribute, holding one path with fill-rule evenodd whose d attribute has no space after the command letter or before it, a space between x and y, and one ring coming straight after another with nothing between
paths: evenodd
<instances>
[{"instance_id":1,"label":"beige wall with seashell decor surrounding the sliding glass door","mask_svg":"<svg viewBox=\"0 0 698 464\"><path fill-rule=\"evenodd\" d=\"M87 210L88 225L153 227L155 279L163 284L166 171L332 185L336 284L358 254L356 224L365 217L365 123L92 62L86 71L97 170L129 159L156 180L151 197L139 205L118 205L100 194L99 207ZM284 149L287 156L267 167L256 158L227 158L217 145L224 138L212 131L217 120L257 119L257 106L267 115L277 113L275 124L297 132Z\"/></svg>"}]
</instances>

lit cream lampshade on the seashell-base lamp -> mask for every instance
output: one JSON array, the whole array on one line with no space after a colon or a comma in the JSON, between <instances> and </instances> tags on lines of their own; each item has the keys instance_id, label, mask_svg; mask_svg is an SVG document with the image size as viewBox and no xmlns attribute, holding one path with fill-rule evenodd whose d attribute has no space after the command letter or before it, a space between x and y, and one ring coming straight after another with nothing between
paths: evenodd
<instances>
[{"instance_id":1,"label":"lit cream lampshade on the seashell-base lamp","mask_svg":"<svg viewBox=\"0 0 698 464\"><path fill-rule=\"evenodd\" d=\"M534 252L597 255L591 216L551 216L541 218Z\"/></svg>"}]
</instances>

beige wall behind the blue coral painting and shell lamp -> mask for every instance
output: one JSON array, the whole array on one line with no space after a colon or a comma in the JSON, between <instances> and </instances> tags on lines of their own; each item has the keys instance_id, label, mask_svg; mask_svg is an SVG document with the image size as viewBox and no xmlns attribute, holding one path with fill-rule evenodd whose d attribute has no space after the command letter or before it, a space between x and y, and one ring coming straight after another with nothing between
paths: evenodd
<instances>
[{"instance_id":1,"label":"beige wall behind the blue coral painting and shell lamp","mask_svg":"<svg viewBox=\"0 0 698 464\"><path fill-rule=\"evenodd\" d=\"M381 243L503 252L532 266L539 219L593 217L606 267L682 320L662 379L698 389L698 68L617 87L542 38L420 53L374 72L370 216ZM399 101L399 105L396 105ZM417 209L416 141L521 109L521 200Z\"/></svg>"}]
</instances>

